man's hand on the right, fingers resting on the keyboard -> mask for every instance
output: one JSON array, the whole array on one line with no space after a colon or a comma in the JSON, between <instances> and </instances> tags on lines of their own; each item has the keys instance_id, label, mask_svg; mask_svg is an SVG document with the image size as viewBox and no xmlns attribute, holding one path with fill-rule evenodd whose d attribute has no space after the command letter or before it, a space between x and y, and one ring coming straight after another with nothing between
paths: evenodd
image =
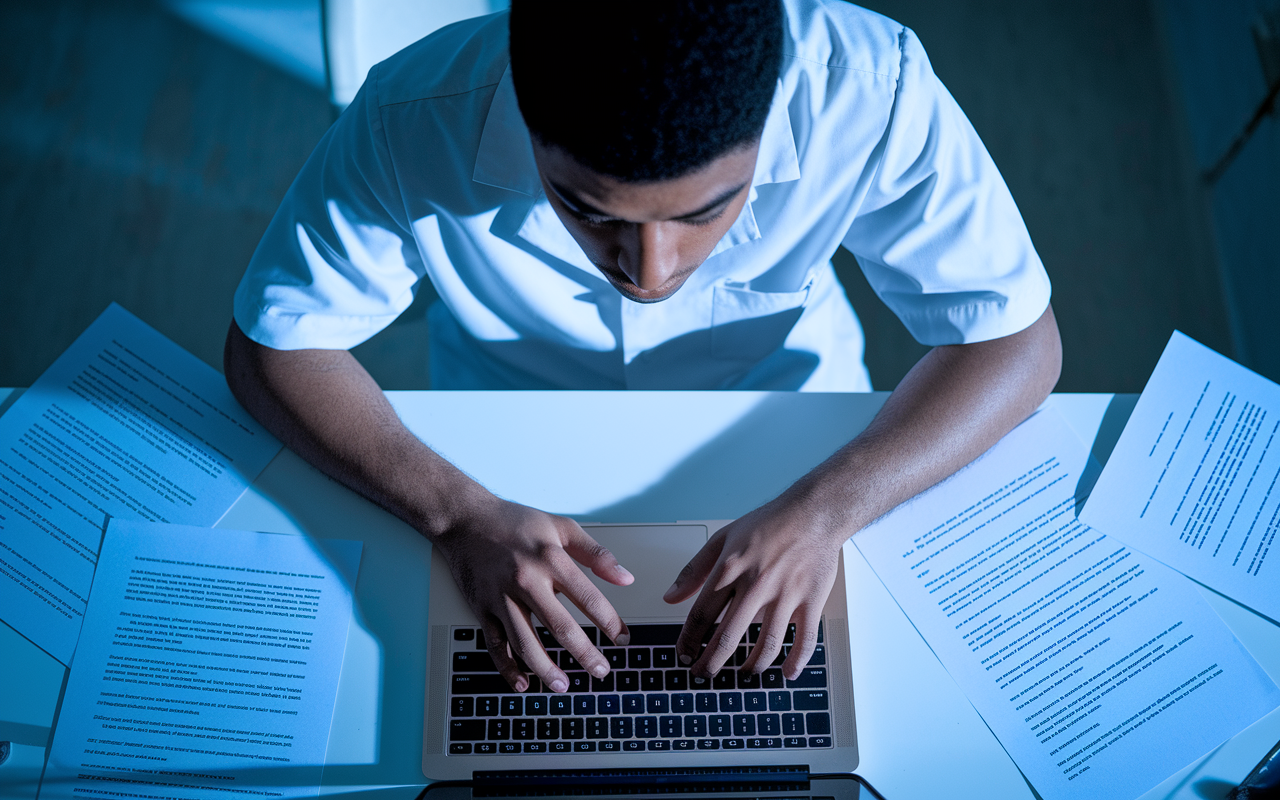
<instances>
[{"instance_id":1,"label":"man's hand on the right, fingers resting on the keyboard","mask_svg":"<svg viewBox=\"0 0 1280 800\"><path fill-rule=\"evenodd\" d=\"M663 596L680 603L701 588L676 643L681 663L692 662L695 675L716 675L760 617L760 635L742 671L760 673L772 664L795 621L795 644L782 672L799 676L818 643L818 622L846 539L847 531L786 495L717 531ZM713 627L707 650L699 653Z\"/></svg>"}]
</instances>

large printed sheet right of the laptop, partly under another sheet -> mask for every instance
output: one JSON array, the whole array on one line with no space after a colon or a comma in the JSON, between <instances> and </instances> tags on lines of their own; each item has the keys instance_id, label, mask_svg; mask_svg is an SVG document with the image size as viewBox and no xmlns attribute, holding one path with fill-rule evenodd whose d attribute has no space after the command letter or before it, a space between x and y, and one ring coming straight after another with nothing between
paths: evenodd
<instances>
[{"instance_id":1,"label":"large printed sheet right of the laptop, partly under another sheet","mask_svg":"<svg viewBox=\"0 0 1280 800\"><path fill-rule=\"evenodd\" d=\"M854 536L1046 800L1130 800L1280 704L1194 585L1075 518L1053 410Z\"/></svg>"}]
</instances>

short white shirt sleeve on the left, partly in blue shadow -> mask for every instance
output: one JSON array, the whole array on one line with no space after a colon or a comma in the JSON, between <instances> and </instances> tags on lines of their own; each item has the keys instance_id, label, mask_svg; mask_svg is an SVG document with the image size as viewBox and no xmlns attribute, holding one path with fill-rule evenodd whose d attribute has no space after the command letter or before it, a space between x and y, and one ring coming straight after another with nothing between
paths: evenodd
<instances>
[{"instance_id":1,"label":"short white shirt sleeve on the left, partly in blue shadow","mask_svg":"<svg viewBox=\"0 0 1280 800\"><path fill-rule=\"evenodd\" d=\"M378 68L329 128L236 291L236 323L275 349L347 349L385 328L425 274L378 104Z\"/></svg>"}]
</instances>

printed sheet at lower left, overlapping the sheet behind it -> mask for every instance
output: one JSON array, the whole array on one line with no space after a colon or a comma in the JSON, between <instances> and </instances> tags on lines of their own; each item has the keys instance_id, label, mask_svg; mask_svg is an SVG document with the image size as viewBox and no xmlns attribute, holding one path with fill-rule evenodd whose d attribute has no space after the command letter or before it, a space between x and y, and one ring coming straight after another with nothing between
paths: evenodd
<instances>
[{"instance_id":1,"label":"printed sheet at lower left, overlapping the sheet behind it","mask_svg":"<svg viewBox=\"0 0 1280 800\"><path fill-rule=\"evenodd\" d=\"M41 800L316 796L360 552L113 520Z\"/></svg>"}]
</instances>

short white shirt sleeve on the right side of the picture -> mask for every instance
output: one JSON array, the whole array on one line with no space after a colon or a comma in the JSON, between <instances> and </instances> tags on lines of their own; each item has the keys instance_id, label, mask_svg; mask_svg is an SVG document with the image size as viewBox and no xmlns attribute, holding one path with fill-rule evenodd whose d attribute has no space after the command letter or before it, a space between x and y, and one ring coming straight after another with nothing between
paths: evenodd
<instances>
[{"instance_id":1,"label":"short white shirt sleeve on the right side of the picture","mask_svg":"<svg viewBox=\"0 0 1280 800\"><path fill-rule=\"evenodd\" d=\"M919 40L904 29L899 41L879 163L844 246L920 343L1018 333L1048 306L1048 275L1000 172Z\"/></svg>"}]
</instances>

